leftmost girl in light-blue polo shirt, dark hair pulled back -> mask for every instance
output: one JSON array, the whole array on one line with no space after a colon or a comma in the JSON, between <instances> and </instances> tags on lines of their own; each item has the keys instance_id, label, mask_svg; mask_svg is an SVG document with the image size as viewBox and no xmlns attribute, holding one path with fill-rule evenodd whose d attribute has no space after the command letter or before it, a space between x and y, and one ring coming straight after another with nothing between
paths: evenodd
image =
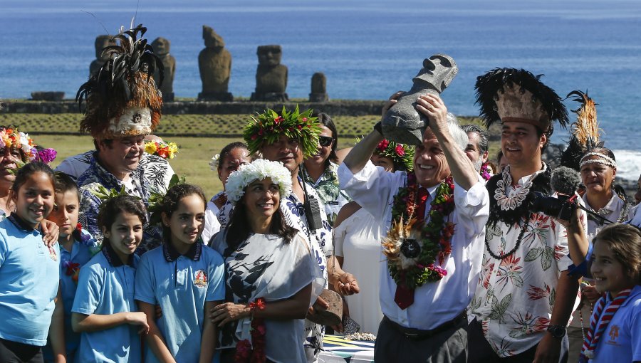
<instances>
[{"instance_id":1,"label":"leftmost girl in light-blue polo shirt, dark hair pulled back","mask_svg":"<svg viewBox=\"0 0 641 363\"><path fill-rule=\"evenodd\" d=\"M42 243L41 223L53 209L51 169L33 162L19 169L9 198L16 210L0 221L0 362L43 362L51 335L63 359L63 307L57 244Z\"/></svg>"}]
</instances>

